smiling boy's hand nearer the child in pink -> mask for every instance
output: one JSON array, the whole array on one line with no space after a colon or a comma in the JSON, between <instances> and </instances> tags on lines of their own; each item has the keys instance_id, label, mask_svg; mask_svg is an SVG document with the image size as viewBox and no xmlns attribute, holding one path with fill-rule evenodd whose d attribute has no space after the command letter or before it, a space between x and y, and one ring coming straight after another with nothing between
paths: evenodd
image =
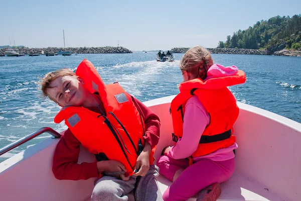
<instances>
[{"instance_id":1,"label":"smiling boy's hand nearer the child in pink","mask_svg":"<svg viewBox=\"0 0 301 201\"><path fill-rule=\"evenodd\" d=\"M145 176L147 171L149 170L149 154L151 151L151 147L148 142L145 142L143 151L137 158L136 161L136 173L133 176Z\"/></svg>"}]
</instances>

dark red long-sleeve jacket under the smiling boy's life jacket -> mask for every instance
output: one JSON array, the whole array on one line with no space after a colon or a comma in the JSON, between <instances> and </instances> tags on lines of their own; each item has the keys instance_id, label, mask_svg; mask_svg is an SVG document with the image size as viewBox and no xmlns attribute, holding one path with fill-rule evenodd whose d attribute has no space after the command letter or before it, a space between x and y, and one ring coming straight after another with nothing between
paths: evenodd
<instances>
[{"instance_id":1,"label":"dark red long-sleeve jacket under the smiling boy's life jacket","mask_svg":"<svg viewBox=\"0 0 301 201\"><path fill-rule=\"evenodd\" d=\"M133 98L133 102L145 123L145 135L143 139L153 148L159 142L159 117L139 102L138 99ZM100 108L104 111L103 106L100 106ZM89 110L100 113L96 107L89 108ZM92 163L77 163L80 144L71 131L67 129L54 152L52 171L57 179L80 180L98 177L97 161Z\"/></svg>"}]
</instances>

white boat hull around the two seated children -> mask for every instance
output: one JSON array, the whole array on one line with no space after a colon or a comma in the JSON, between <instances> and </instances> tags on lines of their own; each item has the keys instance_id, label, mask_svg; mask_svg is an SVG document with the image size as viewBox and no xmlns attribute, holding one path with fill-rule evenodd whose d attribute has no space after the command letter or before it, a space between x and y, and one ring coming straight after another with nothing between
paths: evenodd
<instances>
[{"instance_id":1,"label":"white boat hull around the two seated children","mask_svg":"<svg viewBox=\"0 0 301 201\"><path fill-rule=\"evenodd\" d=\"M173 97L144 103L161 120L156 158L171 139L169 108ZM236 170L231 179L222 183L218 200L299 200L301 124L246 104L238 106L240 114L234 125ZM52 157L58 141L49 138L0 163L2 200L90 199L96 178L70 181L54 177ZM79 163L94 160L93 154L81 148ZM163 176L158 180L164 192L171 182Z\"/></svg>"}]
</instances>

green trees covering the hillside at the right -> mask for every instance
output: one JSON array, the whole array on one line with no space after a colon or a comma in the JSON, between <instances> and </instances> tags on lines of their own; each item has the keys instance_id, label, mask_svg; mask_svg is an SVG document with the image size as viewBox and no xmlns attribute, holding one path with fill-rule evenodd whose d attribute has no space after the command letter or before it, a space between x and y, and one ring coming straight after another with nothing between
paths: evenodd
<instances>
[{"instance_id":1,"label":"green trees covering the hillside at the right","mask_svg":"<svg viewBox=\"0 0 301 201\"><path fill-rule=\"evenodd\" d=\"M244 48L267 49L278 51L280 49L301 48L301 15L291 18L272 17L268 20L258 21L253 27L234 32L232 37L220 41L217 48Z\"/></svg>"}]
</instances>

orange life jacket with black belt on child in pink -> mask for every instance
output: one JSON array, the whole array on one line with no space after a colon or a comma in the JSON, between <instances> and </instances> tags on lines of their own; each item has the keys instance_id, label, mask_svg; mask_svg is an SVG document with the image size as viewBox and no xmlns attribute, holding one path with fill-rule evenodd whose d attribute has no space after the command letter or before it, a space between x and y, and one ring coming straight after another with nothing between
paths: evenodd
<instances>
[{"instance_id":1,"label":"orange life jacket with black belt on child in pink","mask_svg":"<svg viewBox=\"0 0 301 201\"><path fill-rule=\"evenodd\" d=\"M236 75L212 78L205 82L200 78L182 82L179 86L180 93L171 103L173 140L178 141L183 136L185 105L190 97L196 95L210 115L210 124L204 130L192 157L204 156L233 145L235 136L232 135L231 129L238 117L239 109L234 95L227 86L241 84L245 80L245 73L239 70Z\"/></svg>"}]
</instances>

